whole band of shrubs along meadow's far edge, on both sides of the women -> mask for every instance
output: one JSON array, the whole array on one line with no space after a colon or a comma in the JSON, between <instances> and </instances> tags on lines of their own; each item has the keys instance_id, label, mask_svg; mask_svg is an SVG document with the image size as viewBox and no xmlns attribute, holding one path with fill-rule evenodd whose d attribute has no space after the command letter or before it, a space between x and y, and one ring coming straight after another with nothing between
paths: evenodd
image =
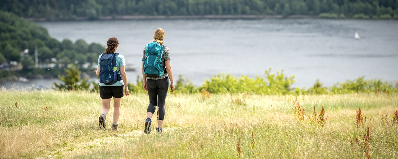
<instances>
[{"instance_id":1,"label":"whole band of shrubs along meadow's far edge, on both sides of the women","mask_svg":"<svg viewBox=\"0 0 398 159\"><path fill-rule=\"evenodd\" d=\"M78 67L72 66L65 69L66 75L59 75L60 83L54 83L53 90L60 91L89 91L99 92L98 82L89 81L87 78L80 80ZM127 86L131 93L146 93L143 89L143 81L137 75L135 84L128 82ZM210 94L261 94L261 95L320 95L320 94L356 94L356 93L375 93L375 94L394 94L398 93L398 81L387 82L380 79L365 80L365 76L354 80L337 82L333 86L323 86L316 80L309 88L293 88L296 82L295 75L287 76L283 69L271 73L271 67L264 71L264 77L248 76L235 77L230 74L218 74L206 79L202 85L196 86L179 75L176 80L176 91L174 94L202 94L209 97ZM237 102L242 102L238 100Z\"/></svg>"}]
</instances>

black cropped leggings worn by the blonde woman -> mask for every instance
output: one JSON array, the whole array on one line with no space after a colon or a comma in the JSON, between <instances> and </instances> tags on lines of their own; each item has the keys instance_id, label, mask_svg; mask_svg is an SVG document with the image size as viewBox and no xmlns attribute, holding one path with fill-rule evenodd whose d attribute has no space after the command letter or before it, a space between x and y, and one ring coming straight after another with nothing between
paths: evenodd
<instances>
[{"instance_id":1,"label":"black cropped leggings worn by the blonde woman","mask_svg":"<svg viewBox=\"0 0 398 159\"><path fill-rule=\"evenodd\" d=\"M156 105L158 105L158 120L161 121L164 119L164 101L169 89L168 79L168 77L158 80L146 79L146 88L149 96L149 105L146 113L151 112L154 114Z\"/></svg>"}]
</instances>

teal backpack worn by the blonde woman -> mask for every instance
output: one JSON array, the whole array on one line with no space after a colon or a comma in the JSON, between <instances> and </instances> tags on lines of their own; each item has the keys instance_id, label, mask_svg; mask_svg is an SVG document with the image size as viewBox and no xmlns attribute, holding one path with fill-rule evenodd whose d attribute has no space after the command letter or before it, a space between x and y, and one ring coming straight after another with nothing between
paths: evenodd
<instances>
[{"instance_id":1,"label":"teal backpack worn by the blonde woman","mask_svg":"<svg viewBox=\"0 0 398 159\"><path fill-rule=\"evenodd\" d=\"M144 74L146 77L160 77L164 75L162 66L163 45L158 42L151 42L145 46Z\"/></svg>"}]
</instances>

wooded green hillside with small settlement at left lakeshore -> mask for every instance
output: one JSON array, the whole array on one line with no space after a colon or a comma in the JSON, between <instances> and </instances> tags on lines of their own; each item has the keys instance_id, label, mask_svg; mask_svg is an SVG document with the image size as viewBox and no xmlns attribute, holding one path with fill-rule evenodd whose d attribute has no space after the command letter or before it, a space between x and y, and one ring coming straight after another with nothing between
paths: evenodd
<instances>
[{"instance_id":1,"label":"wooded green hillside with small settlement at left lakeshore","mask_svg":"<svg viewBox=\"0 0 398 159\"><path fill-rule=\"evenodd\" d=\"M7 76L4 71L10 70L32 73L37 69L63 69L70 63L89 67L104 50L101 44L87 44L82 39L60 42L49 36L44 27L0 11L0 78ZM41 71L41 74L50 72Z\"/></svg>"}]
</instances>

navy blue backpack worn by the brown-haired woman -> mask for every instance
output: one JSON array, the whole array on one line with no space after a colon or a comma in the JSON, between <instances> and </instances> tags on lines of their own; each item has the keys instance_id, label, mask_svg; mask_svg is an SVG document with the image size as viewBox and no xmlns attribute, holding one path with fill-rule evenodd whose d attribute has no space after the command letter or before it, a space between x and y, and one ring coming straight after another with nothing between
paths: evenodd
<instances>
[{"instance_id":1,"label":"navy blue backpack worn by the brown-haired woman","mask_svg":"<svg viewBox=\"0 0 398 159\"><path fill-rule=\"evenodd\" d=\"M100 58L100 83L106 85L112 85L115 82L122 79L121 75L118 73L116 66L116 56L119 53L115 54L105 54L103 53Z\"/></svg>"}]
</instances>

